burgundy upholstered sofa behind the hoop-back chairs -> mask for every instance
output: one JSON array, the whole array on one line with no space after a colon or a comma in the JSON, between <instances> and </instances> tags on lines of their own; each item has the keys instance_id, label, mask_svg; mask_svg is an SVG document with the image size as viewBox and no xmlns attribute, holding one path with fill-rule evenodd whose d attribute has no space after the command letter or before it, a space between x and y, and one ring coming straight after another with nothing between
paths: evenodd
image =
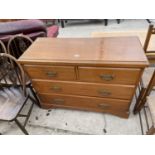
<instances>
[{"instance_id":1,"label":"burgundy upholstered sofa behind the hoop-back chairs","mask_svg":"<svg viewBox=\"0 0 155 155\"><path fill-rule=\"evenodd\" d=\"M5 44L17 34L23 34L35 40L38 37L57 37L59 27L57 25L46 28L41 20L29 19L0 23L0 40Z\"/></svg>"}]
</instances>

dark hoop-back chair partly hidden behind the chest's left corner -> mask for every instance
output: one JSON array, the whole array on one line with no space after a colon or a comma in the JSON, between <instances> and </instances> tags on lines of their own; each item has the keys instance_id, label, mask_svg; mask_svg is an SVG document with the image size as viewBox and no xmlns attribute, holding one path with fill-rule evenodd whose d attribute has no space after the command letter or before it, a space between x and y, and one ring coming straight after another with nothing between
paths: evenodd
<instances>
[{"instance_id":1,"label":"dark hoop-back chair partly hidden behind the chest's left corner","mask_svg":"<svg viewBox=\"0 0 155 155\"><path fill-rule=\"evenodd\" d=\"M33 41L25 35L15 35L10 38L7 46L8 54L11 54L16 59L18 59L29 46L33 43ZM32 87L32 83L27 74L25 74L26 79L26 87L29 88L34 96L34 99L37 101L38 106L40 106L40 101L36 95L34 88Z\"/></svg>"}]
</instances>

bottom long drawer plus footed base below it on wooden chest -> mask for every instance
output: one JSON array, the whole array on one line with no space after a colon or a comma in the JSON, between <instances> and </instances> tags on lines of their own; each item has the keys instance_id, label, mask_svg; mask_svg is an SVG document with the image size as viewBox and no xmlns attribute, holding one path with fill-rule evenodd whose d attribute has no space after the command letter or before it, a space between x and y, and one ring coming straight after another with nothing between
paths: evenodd
<instances>
[{"instance_id":1,"label":"bottom long drawer plus footed base below it on wooden chest","mask_svg":"<svg viewBox=\"0 0 155 155\"><path fill-rule=\"evenodd\" d=\"M73 95L39 94L42 108L71 108L111 113L127 118L130 101Z\"/></svg>"}]
</instances>

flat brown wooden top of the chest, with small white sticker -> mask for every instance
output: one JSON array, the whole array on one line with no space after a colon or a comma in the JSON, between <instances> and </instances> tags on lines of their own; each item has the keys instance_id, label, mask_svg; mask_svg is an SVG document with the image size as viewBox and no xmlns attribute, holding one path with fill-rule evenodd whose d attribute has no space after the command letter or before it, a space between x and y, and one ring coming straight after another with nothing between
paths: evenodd
<instances>
[{"instance_id":1,"label":"flat brown wooden top of the chest, with small white sticker","mask_svg":"<svg viewBox=\"0 0 155 155\"><path fill-rule=\"evenodd\" d=\"M137 37L38 38L19 62L148 65Z\"/></svg>"}]
</instances>

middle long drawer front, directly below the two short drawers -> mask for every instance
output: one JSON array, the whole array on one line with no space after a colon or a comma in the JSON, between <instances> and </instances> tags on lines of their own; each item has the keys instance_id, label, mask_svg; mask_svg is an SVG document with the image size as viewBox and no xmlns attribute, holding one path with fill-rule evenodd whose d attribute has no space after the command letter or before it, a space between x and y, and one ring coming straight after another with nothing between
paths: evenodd
<instances>
[{"instance_id":1,"label":"middle long drawer front, directly below the two short drawers","mask_svg":"<svg viewBox=\"0 0 155 155\"><path fill-rule=\"evenodd\" d=\"M84 82L32 81L39 93L72 94L106 98L131 99L134 86L93 84Z\"/></svg>"}]
</instances>

